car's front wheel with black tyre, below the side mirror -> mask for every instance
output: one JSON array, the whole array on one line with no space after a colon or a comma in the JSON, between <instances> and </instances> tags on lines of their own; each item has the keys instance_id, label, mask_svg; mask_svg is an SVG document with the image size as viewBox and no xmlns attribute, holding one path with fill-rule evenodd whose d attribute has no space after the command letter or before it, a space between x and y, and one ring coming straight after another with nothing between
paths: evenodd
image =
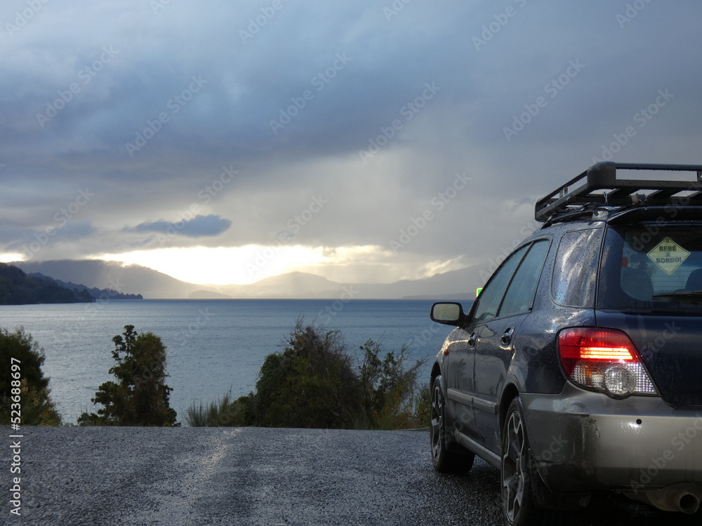
<instances>
[{"instance_id":1,"label":"car's front wheel with black tyre, below the side mirror","mask_svg":"<svg viewBox=\"0 0 702 526\"><path fill-rule=\"evenodd\" d=\"M449 451L446 447L446 403L441 376L432 382L432 408L429 437L432 464L439 473L468 473L473 466L475 454Z\"/></svg>"}]
</instances>

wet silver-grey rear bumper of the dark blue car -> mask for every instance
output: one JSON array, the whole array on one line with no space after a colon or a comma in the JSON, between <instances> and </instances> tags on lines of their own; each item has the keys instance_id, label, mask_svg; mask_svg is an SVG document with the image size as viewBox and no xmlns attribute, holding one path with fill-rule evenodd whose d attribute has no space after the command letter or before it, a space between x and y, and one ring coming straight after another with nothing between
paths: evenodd
<instances>
[{"instance_id":1,"label":"wet silver-grey rear bumper of the dark blue car","mask_svg":"<svg viewBox=\"0 0 702 526\"><path fill-rule=\"evenodd\" d=\"M614 400L572 384L520 398L532 457L552 491L702 483L702 410L675 410L658 397Z\"/></svg>"}]
</instances>

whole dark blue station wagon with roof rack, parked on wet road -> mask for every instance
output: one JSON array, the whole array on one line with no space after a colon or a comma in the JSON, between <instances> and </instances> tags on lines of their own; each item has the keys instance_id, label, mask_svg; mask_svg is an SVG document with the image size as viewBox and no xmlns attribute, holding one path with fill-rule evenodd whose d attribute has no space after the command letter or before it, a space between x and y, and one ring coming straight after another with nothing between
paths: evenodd
<instances>
[{"instance_id":1,"label":"whole dark blue station wagon with roof rack, parked on wet road","mask_svg":"<svg viewBox=\"0 0 702 526\"><path fill-rule=\"evenodd\" d=\"M468 313L432 306L456 327L432 366L432 462L499 468L506 525L594 492L701 513L701 190L702 166L597 163L536 203L543 227Z\"/></svg>"}]
</instances>

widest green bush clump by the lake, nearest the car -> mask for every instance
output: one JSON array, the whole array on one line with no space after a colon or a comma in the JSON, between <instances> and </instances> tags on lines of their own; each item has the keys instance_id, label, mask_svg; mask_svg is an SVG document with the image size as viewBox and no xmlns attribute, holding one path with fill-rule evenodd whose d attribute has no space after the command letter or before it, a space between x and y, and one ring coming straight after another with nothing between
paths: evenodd
<instances>
[{"instance_id":1,"label":"widest green bush clump by the lake, nearest the car","mask_svg":"<svg viewBox=\"0 0 702 526\"><path fill-rule=\"evenodd\" d=\"M369 340L354 365L341 332L298 321L284 351L266 356L256 391L208 406L193 404L191 426L408 429L428 426L429 389L418 388L423 360L385 353Z\"/></svg>"}]
</instances>

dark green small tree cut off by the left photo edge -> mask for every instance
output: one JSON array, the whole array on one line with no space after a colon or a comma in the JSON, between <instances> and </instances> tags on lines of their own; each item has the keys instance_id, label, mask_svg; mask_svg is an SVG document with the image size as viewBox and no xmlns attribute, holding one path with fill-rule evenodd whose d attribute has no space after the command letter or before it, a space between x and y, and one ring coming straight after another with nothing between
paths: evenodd
<instances>
[{"instance_id":1,"label":"dark green small tree cut off by the left photo edge","mask_svg":"<svg viewBox=\"0 0 702 526\"><path fill-rule=\"evenodd\" d=\"M19 360L18 371L11 370L11 358ZM44 349L21 328L15 332L0 329L0 420L10 422L12 389L20 389L20 419L25 426L58 426L61 417L49 396L47 377L41 372ZM17 361L14 362L17 364ZM20 379L13 377L19 373ZM13 384L13 382L15 382ZM15 391L16 393L16 391ZM16 415L16 413L15 413Z\"/></svg>"}]
</instances>

